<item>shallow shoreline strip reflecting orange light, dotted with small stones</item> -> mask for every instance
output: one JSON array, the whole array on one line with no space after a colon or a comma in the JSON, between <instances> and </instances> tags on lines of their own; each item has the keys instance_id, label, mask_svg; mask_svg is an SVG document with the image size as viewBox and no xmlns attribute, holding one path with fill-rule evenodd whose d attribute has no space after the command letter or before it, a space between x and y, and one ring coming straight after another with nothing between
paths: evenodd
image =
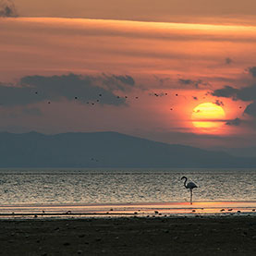
<instances>
[{"instance_id":1,"label":"shallow shoreline strip reflecting orange light, dotted with small stones","mask_svg":"<svg viewBox=\"0 0 256 256\"><path fill-rule=\"evenodd\" d=\"M256 215L256 201L184 201L0 205L0 219L12 217Z\"/></svg>"}]
</instances>

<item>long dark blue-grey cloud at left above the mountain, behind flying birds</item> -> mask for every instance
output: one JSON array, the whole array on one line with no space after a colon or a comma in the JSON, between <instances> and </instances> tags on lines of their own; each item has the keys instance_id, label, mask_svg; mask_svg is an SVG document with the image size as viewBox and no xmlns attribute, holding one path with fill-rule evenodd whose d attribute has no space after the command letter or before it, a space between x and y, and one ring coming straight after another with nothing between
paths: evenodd
<instances>
[{"instance_id":1,"label":"long dark blue-grey cloud at left above the mountain, behind flying birds","mask_svg":"<svg viewBox=\"0 0 256 256\"><path fill-rule=\"evenodd\" d=\"M126 99L114 91L127 91L134 85L134 79L129 76L29 76L20 79L18 85L0 83L0 104L16 106L66 99L80 104L125 105Z\"/></svg>"}]
</instances>

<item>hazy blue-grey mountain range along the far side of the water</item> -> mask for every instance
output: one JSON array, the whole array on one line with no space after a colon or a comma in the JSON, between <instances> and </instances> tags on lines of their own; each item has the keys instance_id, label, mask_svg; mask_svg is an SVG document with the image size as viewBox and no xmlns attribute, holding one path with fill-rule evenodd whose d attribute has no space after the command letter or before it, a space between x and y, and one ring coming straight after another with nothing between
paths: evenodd
<instances>
[{"instance_id":1,"label":"hazy blue-grey mountain range along the far side of the water","mask_svg":"<svg viewBox=\"0 0 256 256\"><path fill-rule=\"evenodd\" d=\"M116 132L1 132L0 157L0 167L256 167L255 157L236 157Z\"/></svg>"}]
</instances>

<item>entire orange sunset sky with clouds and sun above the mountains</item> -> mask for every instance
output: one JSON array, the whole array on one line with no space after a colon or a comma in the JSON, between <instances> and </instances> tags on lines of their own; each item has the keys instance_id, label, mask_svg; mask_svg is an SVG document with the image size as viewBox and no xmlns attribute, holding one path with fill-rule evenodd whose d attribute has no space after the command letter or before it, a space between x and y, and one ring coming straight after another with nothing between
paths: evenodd
<instances>
[{"instance_id":1,"label":"entire orange sunset sky with clouds and sun above the mountains","mask_svg":"<svg viewBox=\"0 0 256 256\"><path fill-rule=\"evenodd\" d=\"M0 0L0 130L256 146L255 10L255 0Z\"/></svg>"}]
</instances>

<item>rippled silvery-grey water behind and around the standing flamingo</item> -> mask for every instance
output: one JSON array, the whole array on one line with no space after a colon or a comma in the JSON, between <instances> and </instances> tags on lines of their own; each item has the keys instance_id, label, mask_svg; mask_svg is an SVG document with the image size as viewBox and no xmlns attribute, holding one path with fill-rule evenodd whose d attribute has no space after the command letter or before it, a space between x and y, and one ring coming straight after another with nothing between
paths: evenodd
<instances>
[{"instance_id":1,"label":"rippled silvery-grey water behind and around the standing flamingo","mask_svg":"<svg viewBox=\"0 0 256 256\"><path fill-rule=\"evenodd\" d=\"M1 205L189 201L180 177L198 186L194 201L256 201L253 170L0 170Z\"/></svg>"}]
</instances>

